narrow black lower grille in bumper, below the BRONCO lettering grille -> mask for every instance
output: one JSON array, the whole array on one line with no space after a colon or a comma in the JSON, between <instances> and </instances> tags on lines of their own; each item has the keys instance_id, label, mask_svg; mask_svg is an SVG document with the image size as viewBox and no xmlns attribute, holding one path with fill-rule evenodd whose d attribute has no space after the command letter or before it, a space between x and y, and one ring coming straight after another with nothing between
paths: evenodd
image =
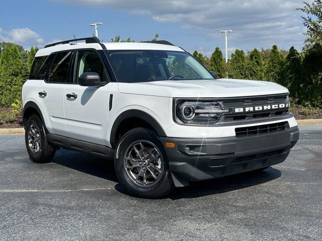
<instances>
[{"instance_id":1,"label":"narrow black lower grille in bumper, below the BRONCO lettering grille","mask_svg":"<svg viewBox=\"0 0 322 241\"><path fill-rule=\"evenodd\" d=\"M272 132L285 131L288 129L287 122L273 123L252 127L239 127L235 129L236 137L245 137L252 135L263 135Z\"/></svg>"}]
</instances>

